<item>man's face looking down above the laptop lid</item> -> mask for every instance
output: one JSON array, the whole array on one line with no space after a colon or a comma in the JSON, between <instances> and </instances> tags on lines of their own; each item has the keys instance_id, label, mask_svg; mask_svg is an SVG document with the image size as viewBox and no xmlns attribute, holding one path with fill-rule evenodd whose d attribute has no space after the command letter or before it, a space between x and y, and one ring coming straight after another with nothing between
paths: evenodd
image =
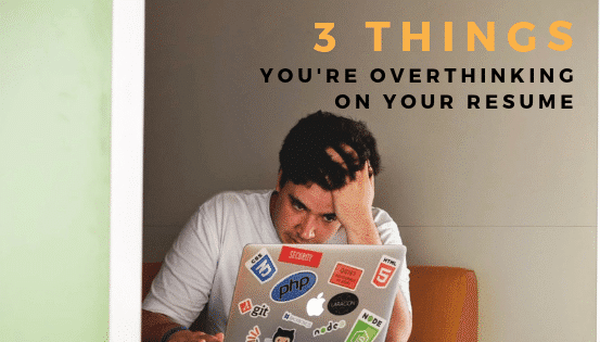
<instances>
[{"instance_id":1,"label":"man's face looking down above the laptop lid","mask_svg":"<svg viewBox=\"0 0 600 342\"><path fill-rule=\"evenodd\" d=\"M271 198L271 219L283 243L323 243L339 229L330 191L316 183L285 182Z\"/></svg>"}]
</instances>

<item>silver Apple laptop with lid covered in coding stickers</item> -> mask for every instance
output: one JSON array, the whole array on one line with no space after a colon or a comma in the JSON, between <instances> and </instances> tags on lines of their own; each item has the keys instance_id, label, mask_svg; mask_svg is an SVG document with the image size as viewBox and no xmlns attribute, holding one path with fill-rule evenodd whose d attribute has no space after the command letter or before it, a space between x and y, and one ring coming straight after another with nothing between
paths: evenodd
<instances>
[{"instance_id":1,"label":"silver Apple laptop with lid covered in coding stickers","mask_svg":"<svg viewBox=\"0 0 600 342\"><path fill-rule=\"evenodd\" d=\"M384 341L404 245L248 244L225 342Z\"/></svg>"}]
</instances>

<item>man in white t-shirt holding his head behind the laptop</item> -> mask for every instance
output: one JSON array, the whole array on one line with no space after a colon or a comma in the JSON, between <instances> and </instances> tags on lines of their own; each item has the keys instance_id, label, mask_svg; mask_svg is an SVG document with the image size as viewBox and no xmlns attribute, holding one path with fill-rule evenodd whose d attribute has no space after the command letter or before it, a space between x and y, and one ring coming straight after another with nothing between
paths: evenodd
<instances>
[{"instance_id":1,"label":"man in white t-shirt holding his head behind the laptop","mask_svg":"<svg viewBox=\"0 0 600 342\"><path fill-rule=\"evenodd\" d=\"M372 207L380 156L365 124L308 115L288 134L279 161L275 191L220 193L192 216L144 300L143 341L222 341L247 243L401 244L390 215ZM204 332L187 330L203 309ZM411 327L405 266L386 342L407 341Z\"/></svg>"}]
</instances>

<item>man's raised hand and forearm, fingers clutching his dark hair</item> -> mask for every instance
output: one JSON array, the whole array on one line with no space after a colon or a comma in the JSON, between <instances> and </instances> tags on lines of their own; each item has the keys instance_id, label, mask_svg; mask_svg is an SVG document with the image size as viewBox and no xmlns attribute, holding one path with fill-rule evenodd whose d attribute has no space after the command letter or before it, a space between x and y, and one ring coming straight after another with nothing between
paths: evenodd
<instances>
[{"instance_id":1,"label":"man's raised hand and forearm, fingers clutching his dark hair","mask_svg":"<svg viewBox=\"0 0 600 342\"><path fill-rule=\"evenodd\" d=\"M347 144L342 148L355 160L357 159L353 148ZM334 149L328 148L327 153L334 162L347 169L344 159ZM367 161L362 168L356 172L354 179L347 176L344 187L331 191L335 215L346 229L349 243L381 244L372 214L375 197L374 178L369 161Z\"/></svg>"}]
</instances>

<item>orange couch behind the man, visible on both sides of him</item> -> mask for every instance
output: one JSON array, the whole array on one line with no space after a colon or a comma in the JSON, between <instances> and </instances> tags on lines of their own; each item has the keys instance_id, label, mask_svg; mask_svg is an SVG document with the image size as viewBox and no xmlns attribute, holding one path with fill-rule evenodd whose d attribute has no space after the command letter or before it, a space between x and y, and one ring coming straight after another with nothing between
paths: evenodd
<instances>
[{"instance_id":1,"label":"orange couch behind the man, visible on both sides of him","mask_svg":"<svg viewBox=\"0 0 600 342\"><path fill-rule=\"evenodd\" d=\"M161 263L142 265L142 299ZM443 266L409 266L413 342L477 341L477 279L472 270Z\"/></svg>"}]
</instances>

